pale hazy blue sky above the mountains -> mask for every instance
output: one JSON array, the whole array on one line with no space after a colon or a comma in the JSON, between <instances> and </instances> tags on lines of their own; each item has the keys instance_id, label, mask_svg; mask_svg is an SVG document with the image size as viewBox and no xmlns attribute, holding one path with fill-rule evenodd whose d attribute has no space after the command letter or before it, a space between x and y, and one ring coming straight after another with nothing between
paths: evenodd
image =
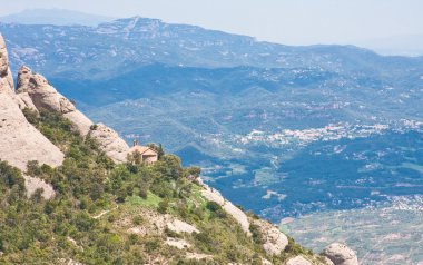
<instances>
[{"instance_id":1,"label":"pale hazy blue sky above the mountains","mask_svg":"<svg viewBox=\"0 0 423 265\"><path fill-rule=\"evenodd\" d=\"M149 17L285 45L338 43L423 55L423 0L0 0L0 16L60 8ZM377 48L377 46L380 46ZM391 47L391 48L390 48Z\"/></svg>"}]
</instances>

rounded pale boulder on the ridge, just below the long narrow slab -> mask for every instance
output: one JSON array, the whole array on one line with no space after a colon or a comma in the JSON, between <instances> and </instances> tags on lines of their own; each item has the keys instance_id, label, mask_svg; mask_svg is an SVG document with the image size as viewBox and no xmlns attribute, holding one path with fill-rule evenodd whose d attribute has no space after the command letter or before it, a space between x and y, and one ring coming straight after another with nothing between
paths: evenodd
<instances>
[{"instance_id":1,"label":"rounded pale boulder on the ridge, just below the long narrow slab","mask_svg":"<svg viewBox=\"0 0 423 265\"><path fill-rule=\"evenodd\" d=\"M277 227L262 219L253 219L252 225L255 225L262 235L263 249L268 255L279 255L288 245L288 238Z\"/></svg>"}]
</instances>

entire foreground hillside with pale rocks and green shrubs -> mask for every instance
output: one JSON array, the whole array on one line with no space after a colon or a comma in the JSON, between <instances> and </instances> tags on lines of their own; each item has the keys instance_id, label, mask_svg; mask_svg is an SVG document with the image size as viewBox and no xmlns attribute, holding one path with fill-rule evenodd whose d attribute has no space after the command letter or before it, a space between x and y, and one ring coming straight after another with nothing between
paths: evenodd
<instances>
[{"instance_id":1,"label":"entire foreground hillside with pale rocks and green shrubs","mask_svg":"<svg viewBox=\"0 0 423 265\"><path fill-rule=\"evenodd\" d=\"M342 245L303 248L157 146L141 163L28 67L14 89L1 36L0 59L1 143L19 141L0 149L2 264L356 264Z\"/></svg>"}]
</instances>

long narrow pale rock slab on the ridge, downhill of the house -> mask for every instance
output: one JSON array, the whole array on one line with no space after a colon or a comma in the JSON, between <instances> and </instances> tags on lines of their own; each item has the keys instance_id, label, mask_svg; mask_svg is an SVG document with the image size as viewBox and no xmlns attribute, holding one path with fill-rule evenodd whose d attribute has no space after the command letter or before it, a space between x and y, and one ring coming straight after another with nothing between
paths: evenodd
<instances>
[{"instance_id":1,"label":"long narrow pale rock slab on the ridge, downhill of the house","mask_svg":"<svg viewBox=\"0 0 423 265\"><path fill-rule=\"evenodd\" d=\"M239 223L240 227L243 228L243 230L245 233L247 233L248 236L252 235L252 233L249 232L249 220L248 220L248 217L247 215L240 210L238 207L236 207L235 205L233 205L233 203L230 203L229 200L225 199L219 192L208 187L207 185L204 185L204 189L201 190L201 195L210 200L210 202L215 202L217 203L218 205L222 206L222 208L228 213L232 217L234 217L234 219L236 222Z\"/></svg>"}]
</instances>

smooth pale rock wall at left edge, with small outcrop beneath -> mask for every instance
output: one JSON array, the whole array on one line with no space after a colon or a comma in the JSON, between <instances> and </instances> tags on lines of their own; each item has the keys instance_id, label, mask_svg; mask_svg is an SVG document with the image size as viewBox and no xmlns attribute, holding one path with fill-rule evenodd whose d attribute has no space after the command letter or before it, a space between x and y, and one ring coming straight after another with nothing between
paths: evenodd
<instances>
[{"instance_id":1,"label":"smooth pale rock wall at left edge, with small outcrop beneath","mask_svg":"<svg viewBox=\"0 0 423 265\"><path fill-rule=\"evenodd\" d=\"M52 167L61 165L65 155L28 122L20 104L14 94L4 41L0 36L0 159L22 171L27 170L30 160ZM41 179L24 178L28 196L37 189L42 189L42 196L47 199L55 195L52 187Z\"/></svg>"}]
</instances>

